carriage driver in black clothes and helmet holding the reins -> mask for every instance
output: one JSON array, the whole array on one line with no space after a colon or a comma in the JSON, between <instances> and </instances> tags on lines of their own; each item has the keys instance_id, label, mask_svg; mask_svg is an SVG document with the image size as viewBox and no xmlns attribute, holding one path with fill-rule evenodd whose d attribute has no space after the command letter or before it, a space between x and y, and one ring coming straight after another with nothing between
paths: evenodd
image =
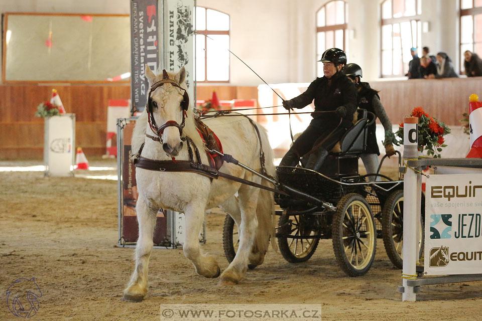
<instances>
[{"instance_id":1,"label":"carriage driver in black clothes and helmet holding the reins","mask_svg":"<svg viewBox=\"0 0 482 321\"><path fill-rule=\"evenodd\" d=\"M314 99L315 112L312 114L313 120L284 155L280 166L296 166L300 157L309 153L304 157L304 161L307 159L305 167L318 171L328 156L328 150L353 125L356 88L341 73L346 64L346 54L341 49L331 48L323 53L319 61L323 62L324 76L316 78L298 97L283 101L283 107L289 110L303 108Z\"/></svg>"}]
</instances>

